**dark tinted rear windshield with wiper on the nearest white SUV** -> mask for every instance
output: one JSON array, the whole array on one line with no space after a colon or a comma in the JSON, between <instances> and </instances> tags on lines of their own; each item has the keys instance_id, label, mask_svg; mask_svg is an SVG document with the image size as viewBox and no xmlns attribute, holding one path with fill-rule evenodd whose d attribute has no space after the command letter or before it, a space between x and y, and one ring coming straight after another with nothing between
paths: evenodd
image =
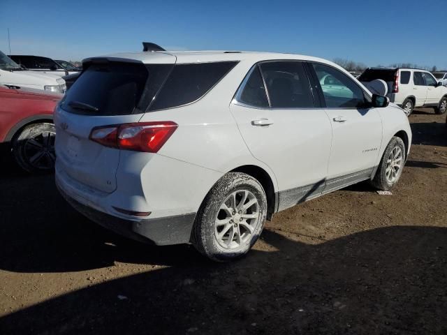
<instances>
[{"instance_id":1,"label":"dark tinted rear windshield with wiper on the nearest white SUV","mask_svg":"<svg viewBox=\"0 0 447 335\"><path fill-rule=\"evenodd\" d=\"M143 93L147 96L149 72L143 64L91 64L67 91L62 107L75 114L132 114Z\"/></svg>"}]
</instances>

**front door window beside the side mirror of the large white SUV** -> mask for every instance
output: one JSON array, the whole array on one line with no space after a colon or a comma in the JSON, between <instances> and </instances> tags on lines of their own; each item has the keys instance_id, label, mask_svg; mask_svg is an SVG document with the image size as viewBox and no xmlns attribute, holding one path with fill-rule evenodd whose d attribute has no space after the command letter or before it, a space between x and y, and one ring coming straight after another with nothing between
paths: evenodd
<instances>
[{"instance_id":1,"label":"front door window beside the side mirror of the large white SUV","mask_svg":"<svg viewBox=\"0 0 447 335\"><path fill-rule=\"evenodd\" d=\"M327 107L361 108L365 105L365 96L362 89L350 77L330 66L312 65L323 90ZM326 82L328 76L334 78L330 81L330 84Z\"/></svg>"}]
</instances>

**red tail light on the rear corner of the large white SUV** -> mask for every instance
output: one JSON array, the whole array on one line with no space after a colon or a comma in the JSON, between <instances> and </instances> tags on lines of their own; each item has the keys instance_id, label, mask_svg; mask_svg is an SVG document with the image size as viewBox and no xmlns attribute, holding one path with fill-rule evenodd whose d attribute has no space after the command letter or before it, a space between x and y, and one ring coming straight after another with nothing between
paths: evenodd
<instances>
[{"instance_id":1,"label":"red tail light on the rear corner of the large white SUV","mask_svg":"<svg viewBox=\"0 0 447 335\"><path fill-rule=\"evenodd\" d=\"M93 128L89 138L105 147L156 153L177 127L173 121L101 126Z\"/></svg>"}]
</instances>

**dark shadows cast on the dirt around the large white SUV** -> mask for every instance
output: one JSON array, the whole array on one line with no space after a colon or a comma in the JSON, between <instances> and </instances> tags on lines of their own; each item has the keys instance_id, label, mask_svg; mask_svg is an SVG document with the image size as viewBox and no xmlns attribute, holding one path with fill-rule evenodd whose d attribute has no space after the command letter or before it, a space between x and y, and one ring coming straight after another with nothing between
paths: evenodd
<instances>
[{"instance_id":1,"label":"dark shadows cast on the dirt around the large white SUV","mask_svg":"<svg viewBox=\"0 0 447 335\"><path fill-rule=\"evenodd\" d=\"M103 230L61 199L52 175L0 182L0 269L163 266L6 315L1 334L447 332L447 228L379 228L316 245L266 229L260 244L272 248L218 264L191 246Z\"/></svg>"}]
</instances>

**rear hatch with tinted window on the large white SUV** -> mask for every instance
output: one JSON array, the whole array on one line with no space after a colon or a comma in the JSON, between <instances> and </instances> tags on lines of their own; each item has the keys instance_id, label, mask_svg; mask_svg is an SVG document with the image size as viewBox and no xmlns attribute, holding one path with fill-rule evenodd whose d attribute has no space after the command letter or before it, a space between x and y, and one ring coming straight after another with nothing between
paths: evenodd
<instances>
[{"instance_id":1,"label":"rear hatch with tinted window on the large white SUV","mask_svg":"<svg viewBox=\"0 0 447 335\"><path fill-rule=\"evenodd\" d=\"M117 188L119 149L89 140L92 128L138 122L175 64L163 54L163 64L96 58L57 107L57 169L86 186L106 193Z\"/></svg>"}]
</instances>

